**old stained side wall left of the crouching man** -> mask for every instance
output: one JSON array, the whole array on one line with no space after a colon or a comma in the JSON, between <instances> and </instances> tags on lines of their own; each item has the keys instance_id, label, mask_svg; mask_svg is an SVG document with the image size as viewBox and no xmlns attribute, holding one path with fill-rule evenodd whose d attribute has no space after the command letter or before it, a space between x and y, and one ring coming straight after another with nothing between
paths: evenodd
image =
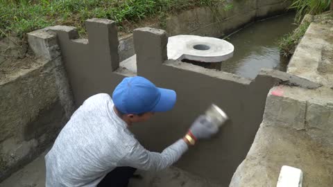
<instances>
[{"instance_id":1,"label":"old stained side wall left of the crouching man","mask_svg":"<svg viewBox=\"0 0 333 187\"><path fill-rule=\"evenodd\" d=\"M0 181L49 147L74 111L55 39L36 43L30 35L43 53L12 62L15 71L0 80Z\"/></svg>"}]
</instances>

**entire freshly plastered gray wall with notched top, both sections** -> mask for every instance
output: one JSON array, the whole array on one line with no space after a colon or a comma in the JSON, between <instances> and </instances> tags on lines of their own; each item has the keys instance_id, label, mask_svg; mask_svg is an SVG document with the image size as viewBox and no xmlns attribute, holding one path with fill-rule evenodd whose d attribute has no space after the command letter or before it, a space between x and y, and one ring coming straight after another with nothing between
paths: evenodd
<instances>
[{"instance_id":1,"label":"entire freshly plastered gray wall with notched top, both sections","mask_svg":"<svg viewBox=\"0 0 333 187\"><path fill-rule=\"evenodd\" d=\"M128 72L119 68L117 28L114 21L88 19L89 40L76 39L73 27L54 26L37 33L56 33L69 82L77 106L93 94L112 94ZM281 78L266 70L255 80L167 60L167 33L140 28L134 32L137 74L159 87L176 90L178 101L171 112L157 114L152 121L133 127L139 141L152 151L161 151L180 139L194 118L212 103L230 116L230 121L210 141L202 141L177 163L177 166L201 177L228 186L234 170L253 142L262 121L268 90ZM46 50L51 50L49 47ZM34 50L35 53L40 53ZM280 72L282 73L282 72ZM282 73L283 74L283 73ZM280 75L280 74L279 74ZM284 74L283 74L284 75ZM285 79L282 79L286 81Z\"/></svg>"}]
</instances>

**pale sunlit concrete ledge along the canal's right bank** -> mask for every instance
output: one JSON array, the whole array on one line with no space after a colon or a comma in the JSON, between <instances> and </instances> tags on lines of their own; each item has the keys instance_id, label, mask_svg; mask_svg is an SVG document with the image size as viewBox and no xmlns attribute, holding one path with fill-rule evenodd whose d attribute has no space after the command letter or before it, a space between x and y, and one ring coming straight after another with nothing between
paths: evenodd
<instances>
[{"instance_id":1,"label":"pale sunlit concrete ledge along the canal's right bank","mask_svg":"<svg viewBox=\"0 0 333 187\"><path fill-rule=\"evenodd\" d=\"M288 73L333 87L333 21L329 18L332 16L333 11L316 16L289 62ZM328 18L316 21L318 17Z\"/></svg>"}]
</instances>

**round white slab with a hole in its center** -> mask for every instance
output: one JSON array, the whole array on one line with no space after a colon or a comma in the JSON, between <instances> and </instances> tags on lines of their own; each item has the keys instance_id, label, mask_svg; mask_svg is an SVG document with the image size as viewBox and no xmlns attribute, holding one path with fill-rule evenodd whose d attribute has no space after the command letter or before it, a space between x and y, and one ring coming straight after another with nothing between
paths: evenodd
<instances>
[{"instance_id":1,"label":"round white slab with a hole in its center","mask_svg":"<svg viewBox=\"0 0 333 187\"><path fill-rule=\"evenodd\" d=\"M168 58L199 62L222 62L232 57L234 46L224 39L176 35L168 39Z\"/></svg>"}]
</instances>

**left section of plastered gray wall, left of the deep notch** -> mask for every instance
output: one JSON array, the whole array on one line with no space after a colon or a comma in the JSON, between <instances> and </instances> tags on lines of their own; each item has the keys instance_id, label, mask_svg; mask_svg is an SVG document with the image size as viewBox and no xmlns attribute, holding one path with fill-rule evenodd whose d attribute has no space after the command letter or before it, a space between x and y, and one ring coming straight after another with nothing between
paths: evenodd
<instances>
[{"instance_id":1,"label":"left section of plastered gray wall, left of the deep notch","mask_svg":"<svg viewBox=\"0 0 333 187\"><path fill-rule=\"evenodd\" d=\"M88 39L78 39L76 28L46 28L58 35L65 69L76 105L98 93L110 93L124 75L112 73L119 67L118 37L114 21L88 19Z\"/></svg>"}]
</instances>

